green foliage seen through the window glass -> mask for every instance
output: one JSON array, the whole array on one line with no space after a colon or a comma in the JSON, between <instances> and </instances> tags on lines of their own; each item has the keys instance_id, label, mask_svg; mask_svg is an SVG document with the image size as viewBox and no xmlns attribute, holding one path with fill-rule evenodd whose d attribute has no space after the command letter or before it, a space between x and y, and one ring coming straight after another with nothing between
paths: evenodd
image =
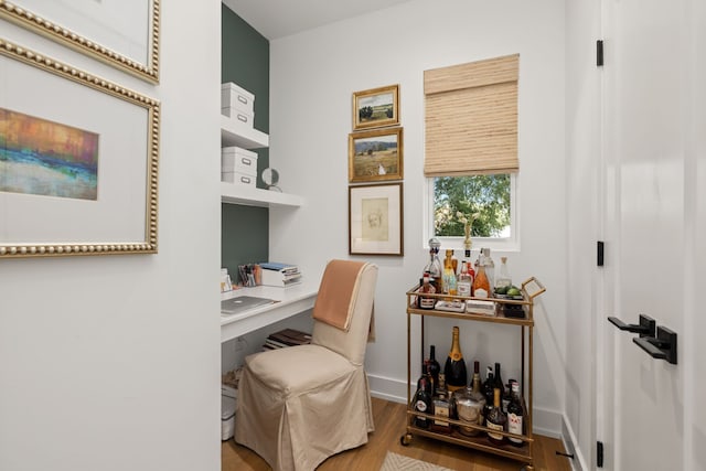
<instances>
[{"instance_id":1,"label":"green foliage seen through the window glass","mask_svg":"<svg viewBox=\"0 0 706 471\"><path fill-rule=\"evenodd\" d=\"M511 224L510 174L434 179L434 226L438 237L462 237L463 222L477 213L471 237L500 237Z\"/></svg>"}]
</instances>

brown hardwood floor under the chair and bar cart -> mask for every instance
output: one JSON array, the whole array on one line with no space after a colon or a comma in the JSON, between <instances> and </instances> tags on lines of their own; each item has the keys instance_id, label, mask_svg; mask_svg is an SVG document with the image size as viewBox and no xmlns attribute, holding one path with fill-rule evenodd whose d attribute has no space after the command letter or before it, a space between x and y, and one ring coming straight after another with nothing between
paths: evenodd
<instances>
[{"instance_id":1,"label":"brown hardwood floor under the chair and bar cart","mask_svg":"<svg viewBox=\"0 0 706 471\"><path fill-rule=\"evenodd\" d=\"M370 435L368 442L354 450L347 450L330 457L321 463L318 470L377 471L383 464L387 451L458 471L517 471L523 468L523 463L520 461L424 437L415 436L411 443L404 447L400 445L399 438L406 431L405 410L404 404L373 398L375 431ZM537 435L534 438L534 465L536 471L571 470L568 458L556 454L556 451L564 452L564 446L560 440ZM267 471L270 469L260 457L249 449L235 443L233 439L223 442L221 450L222 471Z\"/></svg>"}]
</instances>

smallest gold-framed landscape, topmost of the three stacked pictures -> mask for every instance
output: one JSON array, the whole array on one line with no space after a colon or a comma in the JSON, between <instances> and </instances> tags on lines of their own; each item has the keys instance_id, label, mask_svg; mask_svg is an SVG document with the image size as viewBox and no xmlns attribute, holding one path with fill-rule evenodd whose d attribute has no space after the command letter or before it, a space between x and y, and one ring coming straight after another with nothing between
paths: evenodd
<instances>
[{"instance_id":1,"label":"smallest gold-framed landscape, topmost of the three stacked pictures","mask_svg":"<svg viewBox=\"0 0 706 471\"><path fill-rule=\"evenodd\" d=\"M399 125L399 85L353 93L353 130Z\"/></svg>"}]
</instances>

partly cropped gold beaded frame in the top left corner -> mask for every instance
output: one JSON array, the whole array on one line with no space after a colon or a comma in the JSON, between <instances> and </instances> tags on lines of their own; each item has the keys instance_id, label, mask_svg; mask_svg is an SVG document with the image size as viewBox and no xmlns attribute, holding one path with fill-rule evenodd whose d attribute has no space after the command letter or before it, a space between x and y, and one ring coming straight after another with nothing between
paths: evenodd
<instances>
[{"instance_id":1,"label":"partly cropped gold beaded frame in the top left corner","mask_svg":"<svg viewBox=\"0 0 706 471\"><path fill-rule=\"evenodd\" d=\"M159 83L160 0L0 0L0 18Z\"/></svg>"}]
</instances>

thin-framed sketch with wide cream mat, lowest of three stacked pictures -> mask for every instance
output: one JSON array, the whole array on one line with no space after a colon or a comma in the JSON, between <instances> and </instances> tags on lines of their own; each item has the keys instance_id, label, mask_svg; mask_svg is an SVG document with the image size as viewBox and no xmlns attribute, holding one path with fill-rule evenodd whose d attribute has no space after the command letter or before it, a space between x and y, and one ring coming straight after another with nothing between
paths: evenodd
<instances>
[{"instance_id":1,"label":"thin-framed sketch with wide cream mat, lowest of three stacked pictures","mask_svg":"<svg viewBox=\"0 0 706 471\"><path fill-rule=\"evenodd\" d=\"M402 183L349 186L349 254L404 255Z\"/></svg>"}]
</instances>

